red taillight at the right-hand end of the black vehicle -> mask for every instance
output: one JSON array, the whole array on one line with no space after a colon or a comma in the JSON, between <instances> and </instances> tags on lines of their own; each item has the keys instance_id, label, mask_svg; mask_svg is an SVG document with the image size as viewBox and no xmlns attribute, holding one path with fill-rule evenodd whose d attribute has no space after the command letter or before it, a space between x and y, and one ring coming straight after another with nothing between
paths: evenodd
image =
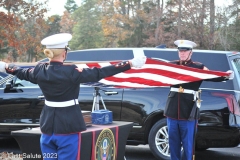
<instances>
[{"instance_id":1,"label":"red taillight at the right-hand end of the black vehicle","mask_svg":"<svg viewBox=\"0 0 240 160\"><path fill-rule=\"evenodd\" d=\"M217 92L212 93L212 95L213 96L217 96L217 97L225 98L226 101L227 101L227 104L228 104L229 111L231 113L235 114L235 115L239 115L240 116L239 105L238 105L234 95L226 94L226 93L217 93Z\"/></svg>"}]
</instances>

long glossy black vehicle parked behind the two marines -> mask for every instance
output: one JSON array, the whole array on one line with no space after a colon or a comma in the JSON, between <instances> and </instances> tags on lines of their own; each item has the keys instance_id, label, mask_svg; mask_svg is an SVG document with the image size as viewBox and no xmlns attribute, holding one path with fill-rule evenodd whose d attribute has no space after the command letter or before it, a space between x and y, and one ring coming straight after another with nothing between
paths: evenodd
<instances>
[{"instance_id":1,"label":"long glossy black vehicle parked behind the two marines","mask_svg":"<svg viewBox=\"0 0 240 160\"><path fill-rule=\"evenodd\" d=\"M166 61L178 59L176 49L106 48L69 52L66 63L128 60L138 54ZM203 101L196 149L237 146L240 143L240 53L194 50L192 60L204 63L211 70L235 72L233 80L202 83ZM82 110L92 110L94 91L94 87L81 85L78 99ZM44 96L38 85L14 77L2 85L0 92L2 134L39 126ZM129 145L149 144L158 159L169 159L167 125L163 115L169 87L105 87L99 92L107 109L113 112L115 121L134 122L127 141Z\"/></svg>"}]
</instances>

